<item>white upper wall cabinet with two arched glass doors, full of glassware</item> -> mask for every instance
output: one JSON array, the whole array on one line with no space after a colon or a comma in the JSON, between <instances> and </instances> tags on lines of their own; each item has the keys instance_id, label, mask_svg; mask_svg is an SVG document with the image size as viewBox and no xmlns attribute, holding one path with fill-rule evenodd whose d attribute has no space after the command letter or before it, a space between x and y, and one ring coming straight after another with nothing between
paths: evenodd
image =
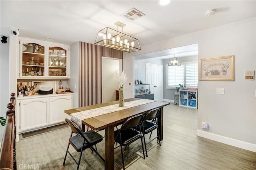
<instances>
[{"instance_id":1,"label":"white upper wall cabinet with two arched glass doors, full of glassware","mask_svg":"<svg viewBox=\"0 0 256 170\"><path fill-rule=\"evenodd\" d=\"M18 79L70 78L70 46L20 38Z\"/></svg>"}]
</instances>

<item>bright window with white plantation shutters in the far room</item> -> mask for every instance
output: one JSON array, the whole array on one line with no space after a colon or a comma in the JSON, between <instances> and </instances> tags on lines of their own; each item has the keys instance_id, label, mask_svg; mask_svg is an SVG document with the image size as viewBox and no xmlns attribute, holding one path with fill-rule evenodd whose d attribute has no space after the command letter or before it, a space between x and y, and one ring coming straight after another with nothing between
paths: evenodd
<instances>
[{"instance_id":1,"label":"bright window with white plantation shutters in the far room","mask_svg":"<svg viewBox=\"0 0 256 170\"><path fill-rule=\"evenodd\" d=\"M177 86L197 87L198 63L184 63L180 66L168 66L167 64L167 89L176 89Z\"/></svg>"}]
</instances>

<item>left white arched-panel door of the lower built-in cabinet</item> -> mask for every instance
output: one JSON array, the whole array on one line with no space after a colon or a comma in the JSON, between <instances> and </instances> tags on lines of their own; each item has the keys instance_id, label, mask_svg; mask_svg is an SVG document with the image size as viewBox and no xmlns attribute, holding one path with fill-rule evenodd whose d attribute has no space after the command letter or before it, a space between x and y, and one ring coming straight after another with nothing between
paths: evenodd
<instances>
[{"instance_id":1,"label":"left white arched-panel door of the lower built-in cabinet","mask_svg":"<svg viewBox=\"0 0 256 170\"><path fill-rule=\"evenodd\" d=\"M49 99L26 99L20 101L20 131L49 124Z\"/></svg>"}]
</instances>

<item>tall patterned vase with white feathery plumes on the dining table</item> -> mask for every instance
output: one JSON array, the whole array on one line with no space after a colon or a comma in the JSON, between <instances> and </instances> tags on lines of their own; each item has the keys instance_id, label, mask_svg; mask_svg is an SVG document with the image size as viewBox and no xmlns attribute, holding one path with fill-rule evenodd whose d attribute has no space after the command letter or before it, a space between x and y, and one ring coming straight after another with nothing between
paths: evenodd
<instances>
[{"instance_id":1,"label":"tall patterned vase with white feathery plumes on the dining table","mask_svg":"<svg viewBox=\"0 0 256 170\"><path fill-rule=\"evenodd\" d=\"M124 74L124 71L122 72L122 75L120 76L119 73L117 72L114 75L115 79L118 81L119 83L119 103L118 106L119 107L124 107L124 83L127 80L126 74ZM138 82L138 81L137 81Z\"/></svg>"}]
</instances>

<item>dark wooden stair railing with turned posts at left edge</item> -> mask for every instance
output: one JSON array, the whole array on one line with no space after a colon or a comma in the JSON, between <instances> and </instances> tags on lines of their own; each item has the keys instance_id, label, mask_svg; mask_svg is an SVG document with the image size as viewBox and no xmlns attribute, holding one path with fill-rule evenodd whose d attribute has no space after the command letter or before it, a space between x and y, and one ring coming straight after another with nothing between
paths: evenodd
<instances>
[{"instance_id":1,"label":"dark wooden stair railing with turned posts at left edge","mask_svg":"<svg viewBox=\"0 0 256 170\"><path fill-rule=\"evenodd\" d=\"M11 93L10 102L7 105L6 127L0 150L0 170L16 170L16 127L15 127L15 93Z\"/></svg>"}]
</instances>

